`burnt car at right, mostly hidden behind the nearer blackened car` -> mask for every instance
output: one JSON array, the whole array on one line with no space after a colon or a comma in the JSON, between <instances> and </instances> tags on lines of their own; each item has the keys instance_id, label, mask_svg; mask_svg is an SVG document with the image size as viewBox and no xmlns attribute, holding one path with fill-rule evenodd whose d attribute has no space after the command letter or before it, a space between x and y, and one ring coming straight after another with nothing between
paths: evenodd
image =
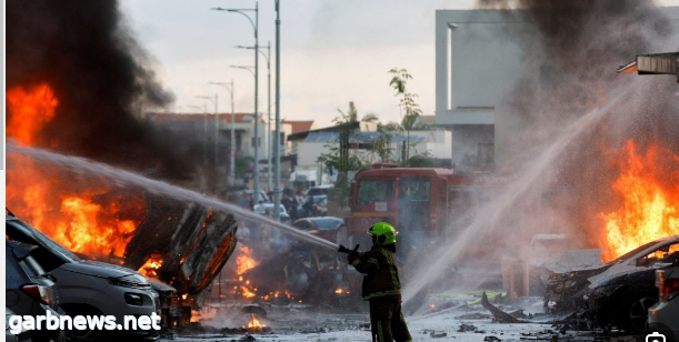
<instances>
[{"instance_id":1,"label":"burnt car at right, mostly hidden behind the nearer blackened car","mask_svg":"<svg viewBox=\"0 0 679 342\"><path fill-rule=\"evenodd\" d=\"M677 250L679 235L673 235L646 243L606 264L555 273L547 281L545 306L552 312L585 309L585 295L590 284L619 273L650 269L667 253Z\"/></svg>"}]
</instances>

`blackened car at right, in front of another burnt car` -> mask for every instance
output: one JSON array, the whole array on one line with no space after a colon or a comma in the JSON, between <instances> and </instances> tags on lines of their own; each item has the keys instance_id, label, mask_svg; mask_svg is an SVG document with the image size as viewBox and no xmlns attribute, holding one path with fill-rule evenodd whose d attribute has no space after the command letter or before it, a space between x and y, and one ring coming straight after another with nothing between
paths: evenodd
<instances>
[{"instance_id":1,"label":"blackened car at right, in front of another burnt car","mask_svg":"<svg viewBox=\"0 0 679 342\"><path fill-rule=\"evenodd\" d=\"M647 331L648 310L658 302L656 271L679 265L679 248L661 249L640 262L645 268L601 278L589 286L586 315L593 325L638 334Z\"/></svg>"}]
</instances>

